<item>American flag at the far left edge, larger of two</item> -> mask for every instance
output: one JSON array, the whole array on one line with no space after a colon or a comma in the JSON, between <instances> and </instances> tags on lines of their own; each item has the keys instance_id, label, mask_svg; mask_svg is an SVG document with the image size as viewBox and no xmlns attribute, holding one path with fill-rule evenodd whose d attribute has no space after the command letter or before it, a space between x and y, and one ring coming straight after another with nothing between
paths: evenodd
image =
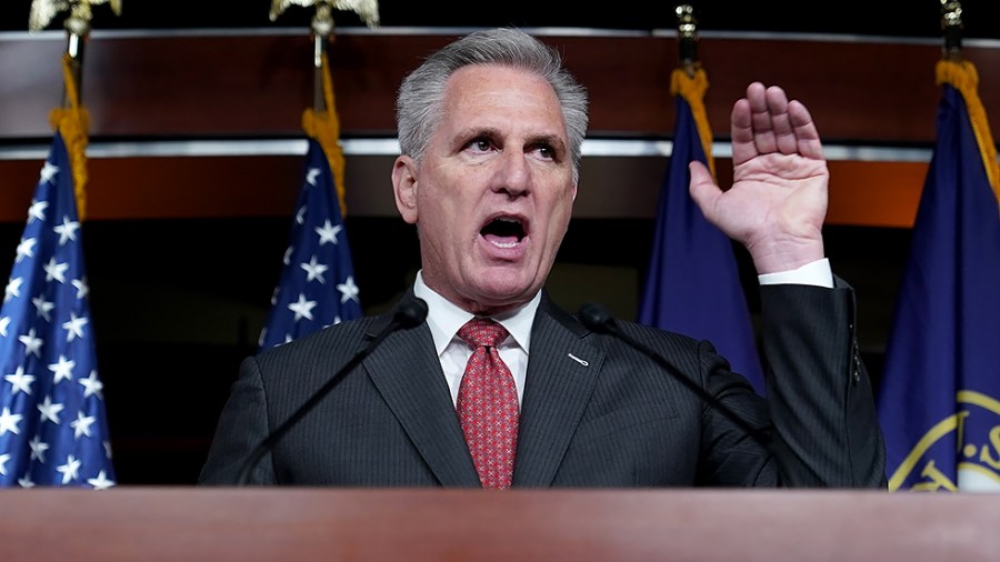
<instances>
[{"instance_id":1,"label":"American flag at the far left edge, larger of two","mask_svg":"<svg viewBox=\"0 0 1000 562\"><path fill-rule=\"evenodd\" d=\"M0 484L114 485L73 175L56 133L0 308Z\"/></svg>"}]
</instances>

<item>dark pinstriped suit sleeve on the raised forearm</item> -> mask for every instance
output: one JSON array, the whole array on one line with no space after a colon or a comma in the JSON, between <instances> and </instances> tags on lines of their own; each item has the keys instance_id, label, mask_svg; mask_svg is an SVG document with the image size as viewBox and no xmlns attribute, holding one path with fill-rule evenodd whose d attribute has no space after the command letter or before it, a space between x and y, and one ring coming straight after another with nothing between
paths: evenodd
<instances>
[{"instance_id":1,"label":"dark pinstriped suit sleeve on the raised forearm","mask_svg":"<svg viewBox=\"0 0 1000 562\"><path fill-rule=\"evenodd\" d=\"M886 446L861 362L853 290L761 287L778 484L884 488Z\"/></svg>"}]
</instances>

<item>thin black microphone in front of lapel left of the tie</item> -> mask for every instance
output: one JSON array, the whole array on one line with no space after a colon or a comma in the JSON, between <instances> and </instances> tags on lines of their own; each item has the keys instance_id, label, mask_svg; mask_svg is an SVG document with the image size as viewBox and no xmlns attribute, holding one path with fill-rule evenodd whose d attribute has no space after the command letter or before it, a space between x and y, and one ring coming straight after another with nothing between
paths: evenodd
<instances>
[{"instance_id":1,"label":"thin black microphone in front of lapel left of the tie","mask_svg":"<svg viewBox=\"0 0 1000 562\"><path fill-rule=\"evenodd\" d=\"M354 354L350 361L348 361L343 367L340 368L339 371L333 373L333 377L330 378L316 393L309 397L309 400L306 401L298 410L292 413L288 420L278 426L271 434L263 439L254 449L250 452L250 455L247 456L247 460L243 461L243 464L240 466L240 472L237 476L237 485L246 485L247 480L250 478L250 472L257 466L257 463L263 458L264 454L271 451L278 441L281 441L281 438L286 435L299 421L306 417L316 404L318 404L327 394L337 387L338 383L344 378L344 375L354 370L361 361L364 360L368 355L371 354L372 351L376 350L390 333L396 330L407 330L410 328L416 328L423 323L423 320L427 318L427 302L423 299L411 298L407 299L396 309L396 313L392 315L392 320L382 329L376 337L366 345L361 351Z\"/></svg>"}]
</instances>

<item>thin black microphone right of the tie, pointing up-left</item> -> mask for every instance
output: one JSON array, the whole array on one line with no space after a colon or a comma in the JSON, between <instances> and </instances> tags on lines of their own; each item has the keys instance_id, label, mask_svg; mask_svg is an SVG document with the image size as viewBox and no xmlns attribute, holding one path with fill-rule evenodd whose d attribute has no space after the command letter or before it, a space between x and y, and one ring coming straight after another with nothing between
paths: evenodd
<instances>
[{"instance_id":1,"label":"thin black microphone right of the tie, pointing up-left","mask_svg":"<svg viewBox=\"0 0 1000 562\"><path fill-rule=\"evenodd\" d=\"M697 394L701 400L706 401L709 405L722 412L726 418L729 418L729 421L737 424L744 433L750 435L754 441L760 443L764 449L771 453L771 456L774 458L774 462L778 465L778 471L784 475L784 463L782 462L783 455L774 449L774 444L771 442L768 436L750 424L747 420L742 419L738 413L732 411L731 408L722 403L719 399L711 395L707 390L704 390L700 384L696 383L691 379L683 375L681 370L667 360L663 355L657 353L649 345L643 344L640 341L637 341L634 338L629 337L618 327L618 323L614 320L614 317L611 315L611 312L608 311L602 304L596 302L588 302L580 307L580 312L578 313L580 320L583 324L589 328L591 331L598 333L607 333L613 338L617 338L631 348L640 351L646 357L652 359L657 362L664 371L667 371L674 380L682 383L688 388L691 392Z\"/></svg>"}]
</instances>

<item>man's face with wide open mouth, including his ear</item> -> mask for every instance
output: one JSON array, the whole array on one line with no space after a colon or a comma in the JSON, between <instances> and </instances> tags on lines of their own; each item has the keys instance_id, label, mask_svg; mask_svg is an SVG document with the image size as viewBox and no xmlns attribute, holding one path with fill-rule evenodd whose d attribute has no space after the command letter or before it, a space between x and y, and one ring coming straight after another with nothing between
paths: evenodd
<instances>
[{"instance_id":1,"label":"man's face with wide open mouth, including his ear","mask_svg":"<svg viewBox=\"0 0 1000 562\"><path fill-rule=\"evenodd\" d=\"M430 288L481 313L542 288L577 194L548 82L492 64L454 72L421 162L400 157L392 179L400 213L418 224Z\"/></svg>"}]
</instances>

